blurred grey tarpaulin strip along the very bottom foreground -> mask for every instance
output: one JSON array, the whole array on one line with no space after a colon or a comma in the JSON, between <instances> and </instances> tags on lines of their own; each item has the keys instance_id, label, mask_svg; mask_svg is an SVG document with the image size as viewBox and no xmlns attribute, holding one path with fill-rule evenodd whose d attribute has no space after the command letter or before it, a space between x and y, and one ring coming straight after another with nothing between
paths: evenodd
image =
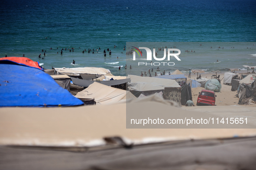
<instances>
[{"instance_id":1,"label":"blurred grey tarpaulin strip along the very bottom foreground","mask_svg":"<svg viewBox=\"0 0 256 170\"><path fill-rule=\"evenodd\" d=\"M131 149L0 147L2 170L255 170L255 160L256 137L174 141Z\"/></svg>"}]
</instances>

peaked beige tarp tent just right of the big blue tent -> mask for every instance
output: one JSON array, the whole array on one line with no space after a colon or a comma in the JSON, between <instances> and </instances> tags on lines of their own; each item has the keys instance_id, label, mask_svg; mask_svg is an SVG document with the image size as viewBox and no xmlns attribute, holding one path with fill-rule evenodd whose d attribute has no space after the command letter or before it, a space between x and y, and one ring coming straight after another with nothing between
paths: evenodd
<instances>
[{"instance_id":1,"label":"peaked beige tarp tent just right of the big blue tent","mask_svg":"<svg viewBox=\"0 0 256 170\"><path fill-rule=\"evenodd\" d=\"M96 104L117 103L125 99L136 98L130 91L113 88L107 85L94 82L88 88L78 92L76 98L90 98L95 100Z\"/></svg>"}]
</instances>

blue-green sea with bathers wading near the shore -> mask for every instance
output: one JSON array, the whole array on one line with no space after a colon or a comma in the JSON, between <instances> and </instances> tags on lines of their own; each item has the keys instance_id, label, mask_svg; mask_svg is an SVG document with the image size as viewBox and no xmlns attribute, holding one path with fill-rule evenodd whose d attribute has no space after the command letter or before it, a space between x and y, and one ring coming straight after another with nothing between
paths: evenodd
<instances>
[{"instance_id":1,"label":"blue-green sea with bathers wading near the shore","mask_svg":"<svg viewBox=\"0 0 256 170\"><path fill-rule=\"evenodd\" d=\"M158 66L137 62L130 69L126 44L159 42L156 51L181 50L181 61L172 58L175 65L165 72L247 70L244 65L256 66L255 7L255 0L1 0L0 57L24 55L45 69L103 67L115 76L140 76Z\"/></svg>"}]
</instances>

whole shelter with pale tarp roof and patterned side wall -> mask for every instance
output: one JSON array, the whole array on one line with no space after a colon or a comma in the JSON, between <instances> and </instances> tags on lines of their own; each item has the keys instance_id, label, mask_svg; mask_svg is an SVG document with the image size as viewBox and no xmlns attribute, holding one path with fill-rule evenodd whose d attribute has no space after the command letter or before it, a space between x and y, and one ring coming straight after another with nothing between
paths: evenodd
<instances>
[{"instance_id":1,"label":"whole shelter with pale tarp roof and patterned side wall","mask_svg":"<svg viewBox=\"0 0 256 170\"><path fill-rule=\"evenodd\" d=\"M172 79L156 79L153 77L141 77L141 76L134 76L134 75L128 75L128 78L131 79L131 82L127 83L127 89L131 91L136 97L139 97L140 94L143 94L145 96L148 96L150 94L159 93L160 91L163 92L164 96L173 96L173 98L169 98L169 100L178 101L180 99L180 96L175 99L175 96L177 96L177 91L180 91L181 86L178 85L178 83L175 80ZM166 91L164 91L165 88ZM171 90L173 91L173 94L166 94L171 93ZM179 92L180 94L180 92ZM166 98L167 99L167 98ZM180 104L180 103L179 103Z\"/></svg>"}]
</instances>

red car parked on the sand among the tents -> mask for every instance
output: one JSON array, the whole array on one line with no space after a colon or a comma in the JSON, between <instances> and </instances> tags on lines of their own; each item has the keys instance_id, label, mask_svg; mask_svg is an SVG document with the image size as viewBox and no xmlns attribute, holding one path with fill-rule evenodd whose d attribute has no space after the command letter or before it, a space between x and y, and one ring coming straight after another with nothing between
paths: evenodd
<instances>
[{"instance_id":1,"label":"red car parked on the sand among the tents","mask_svg":"<svg viewBox=\"0 0 256 170\"><path fill-rule=\"evenodd\" d=\"M197 106L214 106L215 97L217 97L214 91L202 90L199 92Z\"/></svg>"}]
</instances>

